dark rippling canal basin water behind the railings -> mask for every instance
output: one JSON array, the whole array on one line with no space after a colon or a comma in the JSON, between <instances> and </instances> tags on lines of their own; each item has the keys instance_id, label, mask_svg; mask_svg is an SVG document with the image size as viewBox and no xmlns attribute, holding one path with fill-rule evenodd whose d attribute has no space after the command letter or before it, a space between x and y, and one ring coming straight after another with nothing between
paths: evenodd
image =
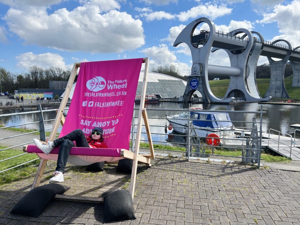
<instances>
[{"instance_id":1,"label":"dark rippling canal basin water behind the railings","mask_svg":"<svg viewBox=\"0 0 300 225\"><path fill-rule=\"evenodd\" d=\"M262 106L262 110L266 112L263 114L263 122L262 131L268 132L268 130L274 129L277 131L281 131L283 133L294 135L294 128L291 128L292 124L300 124L300 113L298 106L290 106L290 105L267 105L267 104L258 104L258 103L241 103L241 104L192 104L192 107L201 107L205 110L234 110L234 111L260 111L260 107ZM138 108L139 105L137 104ZM164 109L164 108L174 108L180 109L183 108L182 103L173 103L173 102L159 102L157 104L146 104L146 108L154 108L154 109ZM43 110L54 109L54 107L44 107ZM10 113L19 113L19 112L28 112L35 111L37 108L19 108L19 109L3 109L2 114L10 114ZM151 133L153 141L162 141L166 142L167 135L159 135L165 134L164 127L155 127L155 126L165 126L166 125L166 112L165 111L147 111L148 117L153 117L155 119L150 119L151 125ZM64 111L64 116L67 115L67 110ZM136 111L136 117L138 116L138 110ZM232 121L252 121L252 118L255 117L256 121L259 122L260 115L259 114L236 114L229 113L229 116ZM54 119L55 112L45 112L44 120ZM25 124L30 122L38 121L38 114L26 114L22 116L10 116L1 118L2 123L5 126L12 126L18 124ZM53 121L45 122L45 128L52 128ZM235 127L251 127L252 124L245 122L233 122ZM168 125L168 123L167 123ZM37 124L24 125L22 128L38 128ZM60 128L61 129L61 128ZM49 130L48 130L49 131ZM60 130L59 130L60 131ZM145 132L143 130L142 132ZM157 133L157 134L155 134ZM170 133L170 131L168 131ZM296 137L300 137L300 132ZM142 139L147 139L146 134L142 136Z\"/></svg>"}]
</instances>

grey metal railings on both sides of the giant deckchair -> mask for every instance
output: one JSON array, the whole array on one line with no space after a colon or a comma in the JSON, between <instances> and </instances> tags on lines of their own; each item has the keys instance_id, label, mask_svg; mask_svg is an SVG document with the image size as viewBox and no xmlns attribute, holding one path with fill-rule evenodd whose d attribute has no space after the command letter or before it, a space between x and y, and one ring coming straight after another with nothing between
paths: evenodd
<instances>
[{"instance_id":1,"label":"grey metal railings on both sides of the giant deckchair","mask_svg":"<svg viewBox=\"0 0 300 225\"><path fill-rule=\"evenodd\" d=\"M67 110L68 108L66 108ZM134 108L134 110L138 110L137 108ZM4 114L4 115L0 115L0 118L4 118L4 117L10 117L10 116L24 116L26 114L38 114L39 115L39 119L38 121L33 121L33 122L30 122L30 123L23 123L23 124L18 124L18 125L12 125L12 126L5 126L5 127L2 127L0 129L6 129L6 128L12 128L12 127L18 127L18 126L24 126L24 125L31 125L31 124L39 124L39 128L37 129L37 131L32 131L32 132L28 132L28 133L24 133L24 134L16 134L16 135L11 135L10 137L1 137L0 141L2 140L6 140L6 139L9 139L9 138L13 138L13 137L23 137L23 136L26 136L26 135L29 135L29 134L34 134L34 133L37 133L37 132L40 132L40 140L44 140L46 139L46 135L45 135L45 131L46 130L51 130L52 128L49 128L49 129L45 129L44 127L44 122L48 122L48 121L54 121L55 119L48 119L48 120L44 120L44 117L43 117L43 113L45 112L52 112L52 111L56 111L56 109L52 109L52 110L42 110L41 109L41 105L39 105L39 110L36 110L36 111L31 111L31 112L22 112L22 113L12 113L12 114ZM161 112L161 111L165 111L165 109L147 109L148 111L148 115L151 115L151 112L153 111L157 111L157 113ZM188 112L188 115L190 115L190 113L192 111L199 111L199 110L191 110L190 108L189 109L170 109L169 111L176 111L176 112L182 112L182 111L186 111ZM260 133L260 140L259 140L259 149L261 149L261 133L262 133L262 108L261 108L261 111L251 111L251 112L247 112L247 111L226 111L226 110L201 110L203 112L223 112L223 113L252 113L252 114L260 114L260 122L259 122L259 133ZM134 114L135 115L135 114ZM163 137L164 138L164 141L162 141L162 139L160 140L155 140L153 139L153 142L154 143L159 143L159 144L162 144L162 145L172 145L172 146L178 146L178 145L181 145L183 147L185 147L185 151L182 151L182 152L178 152L178 151L175 151L173 149L156 149L156 150L160 150L160 151L164 151L164 152L177 152L177 153L181 153L181 154L184 154L184 156L187 158L187 160L190 160L190 157L202 157L202 158L209 158L210 156L220 156L220 157L230 157L230 158L241 158L241 159L249 159L255 163L258 164L258 167L259 167L259 164L260 164L260 150L259 150L259 155L257 157L246 157L244 155L242 156L232 156L232 155L217 155L215 154L215 150L216 149L220 149L222 148L223 150L226 150L226 151L236 151L236 150L241 150L244 149L244 150L250 150L251 149L245 149L244 147L232 147L232 146L208 146L207 144L205 143L201 143L201 139L205 139L206 137L205 136L201 136L199 135L199 133L197 133L197 131L200 130L199 127L196 127L196 126L193 126L193 122L194 121L197 121L196 119L193 119L193 118L190 118L190 116L188 116L188 118L186 119L182 119L182 120L186 120L187 122L187 127L185 128L185 134L172 134L173 137L177 137L179 138L178 140L171 140L170 142L166 142L166 136L170 135L170 134L166 134L166 133L163 133L162 131L164 130L163 128L166 128L166 126L163 125L164 121L166 120L166 117L151 117L149 116L148 117L149 119L149 124L150 124L150 128L154 129L155 128L155 132L152 130L152 136L154 137ZM155 120L159 120L158 121L158 124L155 124L155 122L152 122L152 121L155 121ZM214 120L214 121L217 121L217 120ZM133 116L133 120L132 120L132 128L131 128L131 141L132 141L132 151L134 151L134 143L135 143L135 137L136 137L136 127L137 127L137 117L136 116ZM219 121L221 122L221 121ZM235 123L235 122L247 122L247 121L232 121L232 123ZM253 123L252 121L249 121L247 123ZM61 127L61 126L60 126ZM143 127L145 129L145 127ZM173 130L175 130L174 128L176 128L176 126L173 127ZM145 129L146 130L146 129ZM142 132L142 134L144 135L143 139L141 140L141 142L148 142L147 140L147 135L146 135L146 132ZM225 135L226 136L226 135ZM27 144L30 144L32 143L32 138L28 138L28 140L26 140L25 142L24 141L20 141L18 143L15 143L13 146L7 146L5 147L4 149L1 149L0 151L6 151L8 149L13 149L13 148L17 148L17 147L20 147L20 146L24 146L24 145L27 145ZM184 141L185 140L185 141ZM234 137L220 137L220 140L235 140L235 141L246 141L247 139L245 137L241 137L239 139L235 139ZM224 141L225 143L225 141ZM143 149L149 149L149 148L143 148ZM205 149L211 149L212 150L212 153L206 153L205 152ZM14 159L14 158L17 158L17 157L22 157L24 155L26 155L27 153L23 153L23 152L20 152L20 154L18 155L15 155L15 156L12 156L12 157L8 157L8 158L5 158L5 159L2 159L0 162L3 162L3 161L8 161L8 160L11 160L11 159ZM32 161L36 161L38 160L39 158L35 158L33 160L30 160L30 161L22 161L19 165L12 165L12 167L8 168L8 169L5 169L5 170L2 170L0 171L0 173L4 172L4 171L7 171L7 170L11 170L13 168L16 168L16 167L20 167L22 165L25 165L25 164L28 164Z\"/></svg>"}]
</instances>

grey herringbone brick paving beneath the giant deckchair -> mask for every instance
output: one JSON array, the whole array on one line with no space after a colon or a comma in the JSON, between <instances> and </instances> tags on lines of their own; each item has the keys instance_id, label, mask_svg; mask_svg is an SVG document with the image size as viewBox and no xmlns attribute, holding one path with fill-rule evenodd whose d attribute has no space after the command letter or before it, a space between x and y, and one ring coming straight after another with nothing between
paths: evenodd
<instances>
[{"instance_id":1,"label":"grey herringbone brick paving beneath the giant deckchair","mask_svg":"<svg viewBox=\"0 0 300 225\"><path fill-rule=\"evenodd\" d=\"M49 161L41 184L53 171ZM66 194L100 196L104 191L129 189L130 175L85 172L68 165ZM104 205L52 200L38 218L9 214L29 191L34 176L0 187L1 224L102 224ZM136 220L109 224L300 224L300 173L254 169L232 164L187 162L159 157L152 167L138 166L134 207Z\"/></svg>"}]
</instances>

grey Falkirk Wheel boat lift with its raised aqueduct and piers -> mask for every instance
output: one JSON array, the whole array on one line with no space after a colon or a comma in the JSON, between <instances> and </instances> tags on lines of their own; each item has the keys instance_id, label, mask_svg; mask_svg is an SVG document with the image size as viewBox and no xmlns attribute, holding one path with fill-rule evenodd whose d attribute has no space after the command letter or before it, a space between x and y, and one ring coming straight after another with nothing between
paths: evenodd
<instances>
[{"instance_id":1,"label":"grey Falkirk Wheel boat lift with its raised aqueduct and piers","mask_svg":"<svg viewBox=\"0 0 300 225\"><path fill-rule=\"evenodd\" d=\"M196 27L203 22L208 24L209 30L194 34ZM287 46L277 43L282 41ZM176 47L181 43L189 46L193 59L191 75L187 76L187 86L183 95L185 102L191 99L196 90L201 93L202 100L206 103L229 103L240 97L249 102L289 98L284 85L284 70L288 60L293 69L292 86L300 86L300 46L292 49L288 41L280 39L267 43L258 32L244 28L227 34L216 32L214 23L202 17L187 25L178 35L173 46ZM208 64L210 52L219 49L225 50L229 55L230 67ZM270 84L264 97L259 94L256 85L256 66L260 55L267 56L271 67ZM280 60L274 61L272 58ZM230 77L224 99L214 96L209 87L208 75Z\"/></svg>"}]
</instances>

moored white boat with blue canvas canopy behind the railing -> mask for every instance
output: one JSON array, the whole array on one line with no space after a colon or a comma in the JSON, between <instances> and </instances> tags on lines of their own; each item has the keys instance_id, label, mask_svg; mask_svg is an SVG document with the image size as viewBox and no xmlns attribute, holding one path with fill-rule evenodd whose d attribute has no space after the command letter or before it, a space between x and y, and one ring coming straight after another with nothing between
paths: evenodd
<instances>
[{"instance_id":1,"label":"moored white boat with blue canvas canopy behind the railing","mask_svg":"<svg viewBox=\"0 0 300 225\"><path fill-rule=\"evenodd\" d=\"M195 109L195 108L193 108ZM167 120L170 123L169 130L172 128L181 134L187 134L188 119L190 114L190 120L193 121L193 127L195 128L198 137L205 138L208 134L214 133L219 137L227 135L234 135L235 128L230 120L228 113L218 112L202 112L198 111L184 111L170 116L167 112Z\"/></svg>"}]
</instances>

